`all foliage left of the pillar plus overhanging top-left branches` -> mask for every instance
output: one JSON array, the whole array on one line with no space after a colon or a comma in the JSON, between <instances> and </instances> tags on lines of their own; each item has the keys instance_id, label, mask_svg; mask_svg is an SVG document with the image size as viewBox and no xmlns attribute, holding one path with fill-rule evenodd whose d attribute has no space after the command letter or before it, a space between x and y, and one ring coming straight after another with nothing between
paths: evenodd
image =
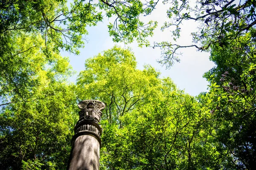
<instances>
[{"instance_id":1,"label":"all foliage left of the pillar plus overhanging top-left branches","mask_svg":"<svg viewBox=\"0 0 256 170\"><path fill-rule=\"evenodd\" d=\"M79 54L103 17L115 42L148 42L154 3L99 0L0 1L0 169L65 169L76 122L76 86L61 49Z\"/></svg>"}]
</instances>

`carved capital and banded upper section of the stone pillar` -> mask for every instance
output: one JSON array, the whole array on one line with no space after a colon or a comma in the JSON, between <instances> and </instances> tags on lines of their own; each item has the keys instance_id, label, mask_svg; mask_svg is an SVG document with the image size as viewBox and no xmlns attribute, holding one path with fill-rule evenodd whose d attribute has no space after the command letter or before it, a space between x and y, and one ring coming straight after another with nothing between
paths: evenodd
<instances>
[{"instance_id":1,"label":"carved capital and banded upper section of the stone pillar","mask_svg":"<svg viewBox=\"0 0 256 170\"><path fill-rule=\"evenodd\" d=\"M102 110L105 104L98 100L84 100L79 102L79 121L75 126L75 135L73 138L80 135L90 135L96 137L101 144L100 136L102 134L102 127L99 125L102 116Z\"/></svg>"}]
</instances>

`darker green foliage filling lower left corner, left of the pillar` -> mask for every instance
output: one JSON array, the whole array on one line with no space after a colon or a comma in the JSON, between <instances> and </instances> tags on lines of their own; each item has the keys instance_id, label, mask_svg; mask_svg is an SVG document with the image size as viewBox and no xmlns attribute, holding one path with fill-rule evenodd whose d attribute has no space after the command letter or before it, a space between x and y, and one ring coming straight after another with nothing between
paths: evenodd
<instances>
[{"instance_id":1,"label":"darker green foliage filling lower left corner, left of the pillar","mask_svg":"<svg viewBox=\"0 0 256 170\"><path fill-rule=\"evenodd\" d=\"M67 165L77 118L73 87L52 82L33 91L38 100L10 104L0 114L3 169L20 169L22 160L28 161L23 162L24 168L37 160L44 168L51 162L55 162L53 168Z\"/></svg>"}]
</instances>

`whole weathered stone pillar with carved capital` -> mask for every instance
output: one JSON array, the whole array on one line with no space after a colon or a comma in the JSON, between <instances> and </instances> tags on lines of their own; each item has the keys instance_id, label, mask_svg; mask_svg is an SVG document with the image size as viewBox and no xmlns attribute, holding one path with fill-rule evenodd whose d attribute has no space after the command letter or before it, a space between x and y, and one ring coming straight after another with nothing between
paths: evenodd
<instances>
[{"instance_id":1,"label":"whole weathered stone pillar with carved capital","mask_svg":"<svg viewBox=\"0 0 256 170\"><path fill-rule=\"evenodd\" d=\"M99 170L102 134L99 121L105 104L97 100L84 100L78 104L78 107L81 111L75 126L75 135L72 138L67 170Z\"/></svg>"}]
</instances>

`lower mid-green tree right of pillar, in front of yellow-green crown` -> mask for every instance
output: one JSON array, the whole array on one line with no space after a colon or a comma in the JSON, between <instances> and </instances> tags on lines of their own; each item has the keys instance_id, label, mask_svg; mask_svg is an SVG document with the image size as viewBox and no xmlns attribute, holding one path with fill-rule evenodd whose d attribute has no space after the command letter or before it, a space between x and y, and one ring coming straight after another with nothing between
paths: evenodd
<instances>
[{"instance_id":1,"label":"lower mid-green tree right of pillar, in front of yellow-green crown","mask_svg":"<svg viewBox=\"0 0 256 170\"><path fill-rule=\"evenodd\" d=\"M164 79L161 88L151 102L122 117L121 129L103 126L102 170L219 166L222 155L205 131L209 125L200 105L177 91L170 79Z\"/></svg>"}]
</instances>

